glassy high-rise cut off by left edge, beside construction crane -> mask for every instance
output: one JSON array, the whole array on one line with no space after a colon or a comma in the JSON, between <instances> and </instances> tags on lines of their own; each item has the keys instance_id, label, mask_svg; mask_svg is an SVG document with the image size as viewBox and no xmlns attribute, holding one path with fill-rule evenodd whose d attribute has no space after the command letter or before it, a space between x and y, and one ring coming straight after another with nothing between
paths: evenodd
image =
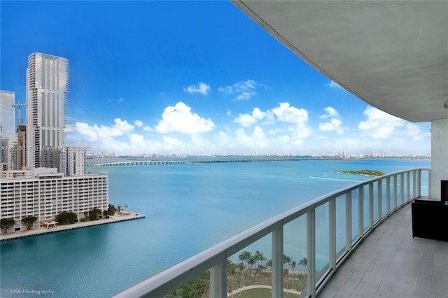
<instances>
[{"instance_id":1,"label":"glassy high-rise cut off by left edge, beside construction crane","mask_svg":"<svg viewBox=\"0 0 448 298\"><path fill-rule=\"evenodd\" d=\"M15 136L15 92L0 90L0 163L8 164L8 141Z\"/></svg>"}]
</instances>

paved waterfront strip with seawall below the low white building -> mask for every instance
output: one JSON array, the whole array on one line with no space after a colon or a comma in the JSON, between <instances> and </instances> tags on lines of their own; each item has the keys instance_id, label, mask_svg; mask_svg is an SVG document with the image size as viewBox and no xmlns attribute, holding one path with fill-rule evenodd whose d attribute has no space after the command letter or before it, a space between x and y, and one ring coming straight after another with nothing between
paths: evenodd
<instances>
[{"instance_id":1,"label":"paved waterfront strip with seawall below the low white building","mask_svg":"<svg viewBox=\"0 0 448 298\"><path fill-rule=\"evenodd\" d=\"M110 216L109 218L102 218L99 220L89 220L87 222L75 222L70 225L57 225L56 227L50 227L50 228L38 227L37 229L10 232L9 234L1 234L0 242L38 236L43 234L64 232L70 229L82 229L84 227L93 227L95 225L107 225L114 222L123 222L125 220L137 220L139 218L145 218L145 215L121 209L121 213L116 213L116 215Z\"/></svg>"}]
</instances>

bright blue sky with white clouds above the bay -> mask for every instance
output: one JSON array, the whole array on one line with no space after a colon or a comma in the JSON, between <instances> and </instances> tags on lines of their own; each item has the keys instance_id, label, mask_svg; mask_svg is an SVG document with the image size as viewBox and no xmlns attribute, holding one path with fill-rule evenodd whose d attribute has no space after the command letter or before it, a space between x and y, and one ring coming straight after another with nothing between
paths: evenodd
<instances>
[{"instance_id":1,"label":"bright blue sky with white clouds above the bay","mask_svg":"<svg viewBox=\"0 0 448 298\"><path fill-rule=\"evenodd\" d=\"M430 154L430 123L357 99L230 1L1 1L0 11L0 89L25 102L32 52L69 59L65 140L89 153Z\"/></svg>"}]
</instances>

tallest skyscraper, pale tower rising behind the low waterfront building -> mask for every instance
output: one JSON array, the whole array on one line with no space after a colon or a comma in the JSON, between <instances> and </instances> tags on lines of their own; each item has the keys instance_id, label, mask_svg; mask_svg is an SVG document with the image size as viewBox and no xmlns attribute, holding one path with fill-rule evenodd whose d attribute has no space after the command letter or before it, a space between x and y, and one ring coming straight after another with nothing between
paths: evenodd
<instances>
[{"instance_id":1,"label":"tallest skyscraper, pale tower rising behind the low waterfront building","mask_svg":"<svg viewBox=\"0 0 448 298\"><path fill-rule=\"evenodd\" d=\"M69 61L34 52L27 68L27 166L59 169L63 146Z\"/></svg>"}]
</instances>

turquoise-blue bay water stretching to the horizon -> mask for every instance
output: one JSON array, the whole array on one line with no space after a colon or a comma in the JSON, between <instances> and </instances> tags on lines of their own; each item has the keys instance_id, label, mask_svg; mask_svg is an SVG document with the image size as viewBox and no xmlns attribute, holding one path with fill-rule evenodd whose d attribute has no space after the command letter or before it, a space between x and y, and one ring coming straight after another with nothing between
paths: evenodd
<instances>
[{"instance_id":1,"label":"turquoise-blue bay water stretching to the horizon","mask_svg":"<svg viewBox=\"0 0 448 298\"><path fill-rule=\"evenodd\" d=\"M430 160L87 167L92 173L109 173L111 204L127 206L146 218L1 242L0 296L20 297L13 290L22 289L52 290L52 297L111 297L244 229L368 179L332 171L392 173L414 167L430 167ZM298 261L304 257L304 243L301 233L296 234L296 241L285 241L285 251ZM248 250L269 255L267 243L260 241Z\"/></svg>"}]
</instances>

